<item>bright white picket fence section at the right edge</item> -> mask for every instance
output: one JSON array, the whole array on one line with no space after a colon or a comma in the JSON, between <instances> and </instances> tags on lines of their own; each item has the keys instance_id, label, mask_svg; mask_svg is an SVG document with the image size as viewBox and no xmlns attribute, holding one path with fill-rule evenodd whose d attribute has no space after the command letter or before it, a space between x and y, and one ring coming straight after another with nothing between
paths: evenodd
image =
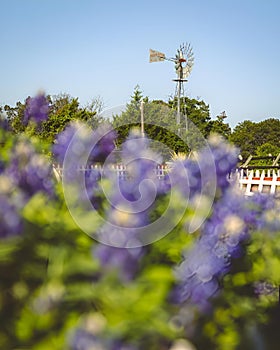
<instances>
[{"instance_id":1,"label":"bright white picket fence section at the right edge","mask_svg":"<svg viewBox=\"0 0 280 350\"><path fill-rule=\"evenodd\" d=\"M239 187L246 196L256 192L280 195L280 169L240 169Z\"/></svg>"}]
</instances>

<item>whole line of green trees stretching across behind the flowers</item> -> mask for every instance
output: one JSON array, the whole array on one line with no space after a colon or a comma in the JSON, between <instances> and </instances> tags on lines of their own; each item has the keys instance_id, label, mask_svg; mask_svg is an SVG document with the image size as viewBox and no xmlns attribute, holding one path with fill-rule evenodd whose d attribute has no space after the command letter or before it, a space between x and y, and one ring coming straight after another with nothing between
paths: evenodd
<instances>
[{"instance_id":1,"label":"whole line of green trees stretching across behind the flowers","mask_svg":"<svg viewBox=\"0 0 280 350\"><path fill-rule=\"evenodd\" d=\"M92 128L101 123L110 123L118 133L118 145L128 136L131 127L141 127L141 101L144 102L144 126L147 136L154 140L154 147L160 150L164 158L170 156L170 149L175 153L188 153L191 149L202 146L203 140L212 133L220 134L236 145L240 155L246 159L249 155L267 156L280 153L280 120L268 118L260 122L244 120L234 128L227 123L227 116L221 113L214 119L210 116L209 105L200 99L181 98L181 121L176 122L177 98L168 101L149 100L137 85L130 101L120 114L110 119L102 117L103 102L95 98L86 107L80 105L79 99L69 94L47 96L49 101L49 118L39 129L25 125L24 111L27 101L17 102L14 107L0 106L2 122L7 122L10 130L16 134L36 134L47 143L55 142L56 135L72 120L82 120ZM117 145L117 146L118 146Z\"/></svg>"}]
</instances>

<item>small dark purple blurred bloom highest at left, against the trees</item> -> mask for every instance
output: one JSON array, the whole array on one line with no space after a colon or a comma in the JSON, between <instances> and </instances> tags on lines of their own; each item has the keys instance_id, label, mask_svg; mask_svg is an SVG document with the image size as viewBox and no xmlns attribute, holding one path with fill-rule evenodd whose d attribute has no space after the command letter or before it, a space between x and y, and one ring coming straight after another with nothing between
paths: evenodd
<instances>
[{"instance_id":1,"label":"small dark purple blurred bloom highest at left, against the trees","mask_svg":"<svg viewBox=\"0 0 280 350\"><path fill-rule=\"evenodd\" d=\"M23 122L27 125L29 121L33 121L37 125L40 125L48 119L48 113L48 99L43 93L40 93L35 97L29 97L27 99Z\"/></svg>"}]
</instances>

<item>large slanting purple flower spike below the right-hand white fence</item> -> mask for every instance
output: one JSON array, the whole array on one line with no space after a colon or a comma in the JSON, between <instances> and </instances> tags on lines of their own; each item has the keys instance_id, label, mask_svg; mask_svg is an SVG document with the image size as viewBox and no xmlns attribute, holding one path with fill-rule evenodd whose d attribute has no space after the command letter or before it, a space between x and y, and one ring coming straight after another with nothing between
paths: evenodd
<instances>
[{"instance_id":1,"label":"large slanting purple flower spike below the right-hand white fence","mask_svg":"<svg viewBox=\"0 0 280 350\"><path fill-rule=\"evenodd\" d=\"M251 230L258 228L269 202L259 197L246 199L235 186L225 191L214 203L194 248L176 270L179 284L174 300L192 302L202 309L207 306L218 292L220 279L230 271L232 259L242 254L242 242L249 240Z\"/></svg>"}]
</instances>

